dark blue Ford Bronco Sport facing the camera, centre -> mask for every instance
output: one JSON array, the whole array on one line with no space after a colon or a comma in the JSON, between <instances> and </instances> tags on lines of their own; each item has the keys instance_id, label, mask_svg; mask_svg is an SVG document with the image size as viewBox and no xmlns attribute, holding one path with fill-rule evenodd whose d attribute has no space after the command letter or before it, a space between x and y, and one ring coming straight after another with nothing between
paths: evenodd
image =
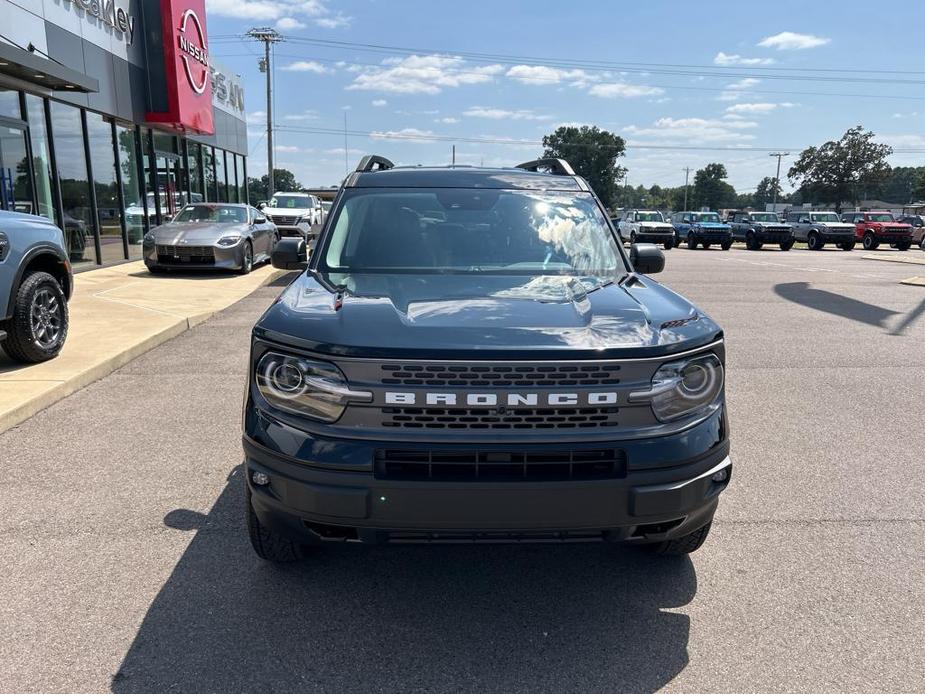
<instances>
[{"instance_id":1,"label":"dark blue Ford Bronco Sport facing the camera, centre","mask_svg":"<svg viewBox=\"0 0 925 694\"><path fill-rule=\"evenodd\" d=\"M364 157L253 330L246 512L271 561L325 542L696 550L729 484L719 326L627 254L562 160Z\"/></svg>"}]
</instances>

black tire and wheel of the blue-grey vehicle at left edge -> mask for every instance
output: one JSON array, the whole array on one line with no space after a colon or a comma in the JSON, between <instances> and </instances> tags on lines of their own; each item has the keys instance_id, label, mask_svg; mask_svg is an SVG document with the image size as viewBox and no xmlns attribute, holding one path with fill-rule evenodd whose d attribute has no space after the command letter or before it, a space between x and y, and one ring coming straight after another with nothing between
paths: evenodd
<instances>
[{"instance_id":1,"label":"black tire and wheel of the blue-grey vehicle at left edge","mask_svg":"<svg viewBox=\"0 0 925 694\"><path fill-rule=\"evenodd\" d=\"M67 339L67 299L58 280L47 272L23 279L13 300L3 349L14 361L37 364L54 359Z\"/></svg>"}]
</instances>

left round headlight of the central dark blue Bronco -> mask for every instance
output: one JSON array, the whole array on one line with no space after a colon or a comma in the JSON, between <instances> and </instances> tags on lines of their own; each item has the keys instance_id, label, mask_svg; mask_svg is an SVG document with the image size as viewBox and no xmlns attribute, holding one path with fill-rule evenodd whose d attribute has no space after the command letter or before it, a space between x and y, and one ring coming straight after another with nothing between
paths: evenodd
<instances>
[{"instance_id":1,"label":"left round headlight of the central dark blue Bronco","mask_svg":"<svg viewBox=\"0 0 925 694\"><path fill-rule=\"evenodd\" d=\"M368 391L350 390L333 364L267 352L257 363L257 389L274 407L324 422L337 420L349 402L372 402Z\"/></svg>"}]
</instances>

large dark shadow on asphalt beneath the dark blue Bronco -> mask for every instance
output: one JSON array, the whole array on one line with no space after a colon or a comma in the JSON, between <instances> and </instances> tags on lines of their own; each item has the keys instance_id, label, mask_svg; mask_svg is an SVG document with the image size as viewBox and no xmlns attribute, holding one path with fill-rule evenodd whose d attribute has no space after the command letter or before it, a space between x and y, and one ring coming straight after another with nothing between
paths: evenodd
<instances>
[{"instance_id":1,"label":"large dark shadow on asphalt beneath the dark blue Bronco","mask_svg":"<svg viewBox=\"0 0 925 694\"><path fill-rule=\"evenodd\" d=\"M241 468L151 604L112 691L650 692L688 662L687 557L611 545L251 551Z\"/></svg>"}]
</instances>

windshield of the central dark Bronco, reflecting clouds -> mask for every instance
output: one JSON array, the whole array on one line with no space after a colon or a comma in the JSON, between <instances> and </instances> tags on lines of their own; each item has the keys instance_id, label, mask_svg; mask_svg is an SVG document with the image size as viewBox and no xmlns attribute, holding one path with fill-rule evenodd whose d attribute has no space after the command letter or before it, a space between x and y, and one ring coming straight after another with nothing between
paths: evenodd
<instances>
[{"instance_id":1,"label":"windshield of the central dark Bronco, reflecting clouds","mask_svg":"<svg viewBox=\"0 0 925 694\"><path fill-rule=\"evenodd\" d=\"M588 193L453 188L350 191L322 268L609 277L626 269Z\"/></svg>"}]
</instances>

